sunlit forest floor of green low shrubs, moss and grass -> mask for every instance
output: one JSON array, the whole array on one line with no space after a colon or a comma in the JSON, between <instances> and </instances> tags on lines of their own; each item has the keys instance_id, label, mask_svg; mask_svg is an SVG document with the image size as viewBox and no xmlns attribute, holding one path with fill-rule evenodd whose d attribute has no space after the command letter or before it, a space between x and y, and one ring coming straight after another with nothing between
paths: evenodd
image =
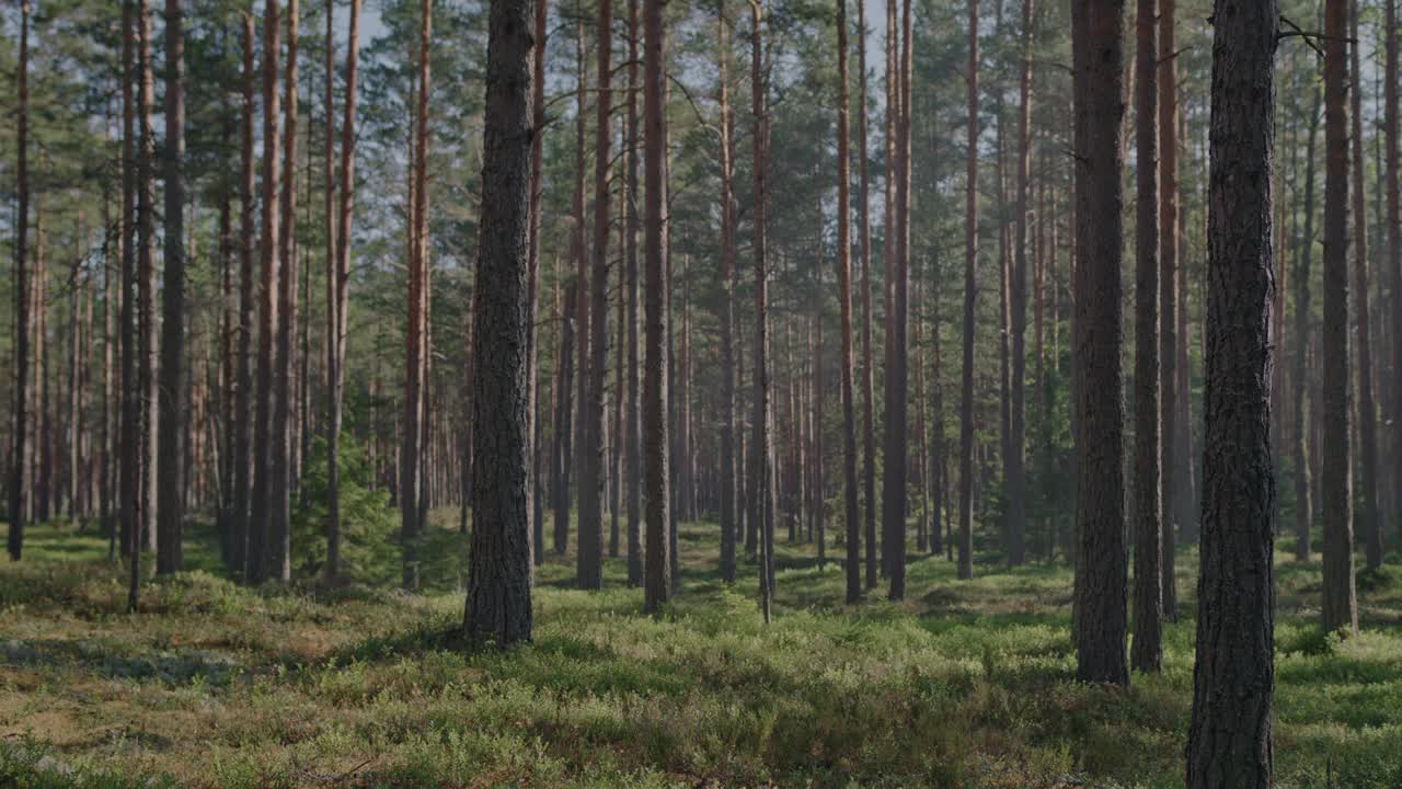
<instances>
[{"instance_id":1,"label":"sunlit forest floor of green low shrubs, moss and grass","mask_svg":"<svg viewBox=\"0 0 1402 789\"><path fill-rule=\"evenodd\" d=\"M840 566L785 545L765 628L756 567L723 588L716 542L683 526L658 618L622 560L583 592L551 555L534 643L465 656L451 578L247 590L203 535L203 570L133 616L105 541L34 528L0 564L0 786L1182 786L1192 550L1164 672L1106 689L1074 681L1066 566L958 581L917 557L908 599L845 606ZM1339 642L1319 564L1277 559L1276 785L1402 786L1402 571L1360 574Z\"/></svg>"}]
</instances>

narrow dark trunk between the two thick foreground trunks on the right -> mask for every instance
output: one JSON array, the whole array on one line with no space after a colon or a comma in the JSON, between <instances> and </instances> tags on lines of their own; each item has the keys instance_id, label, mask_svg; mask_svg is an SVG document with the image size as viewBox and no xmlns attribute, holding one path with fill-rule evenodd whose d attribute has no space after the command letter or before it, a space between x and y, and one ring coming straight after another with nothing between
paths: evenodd
<instances>
[{"instance_id":1,"label":"narrow dark trunk between the two thick foreground trunks on the right","mask_svg":"<svg viewBox=\"0 0 1402 789\"><path fill-rule=\"evenodd\" d=\"M1134 642L1137 671L1164 665L1164 535L1158 400L1158 41L1155 0L1138 0L1134 28Z\"/></svg>"}]
</instances>

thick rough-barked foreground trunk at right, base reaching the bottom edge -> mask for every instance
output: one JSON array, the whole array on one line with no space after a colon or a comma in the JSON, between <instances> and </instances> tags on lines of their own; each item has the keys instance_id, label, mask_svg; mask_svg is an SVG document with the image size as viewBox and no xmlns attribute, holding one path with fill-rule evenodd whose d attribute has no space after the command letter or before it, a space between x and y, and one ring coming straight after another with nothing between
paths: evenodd
<instances>
[{"instance_id":1,"label":"thick rough-barked foreground trunk at right, base reaching the bottom edge","mask_svg":"<svg viewBox=\"0 0 1402 789\"><path fill-rule=\"evenodd\" d=\"M1206 439L1189 789L1270 786L1273 0L1217 0L1207 229Z\"/></svg>"}]
</instances>

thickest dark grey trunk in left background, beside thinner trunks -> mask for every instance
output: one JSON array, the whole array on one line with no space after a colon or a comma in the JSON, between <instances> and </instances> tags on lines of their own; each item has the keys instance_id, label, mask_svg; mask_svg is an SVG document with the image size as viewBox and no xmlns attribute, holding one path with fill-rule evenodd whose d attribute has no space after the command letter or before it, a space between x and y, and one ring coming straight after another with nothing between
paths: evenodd
<instances>
[{"instance_id":1,"label":"thickest dark grey trunk in left background, beside thinner trunks","mask_svg":"<svg viewBox=\"0 0 1402 789\"><path fill-rule=\"evenodd\" d=\"M296 0L293 0L296 1ZM165 0L165 270L161 291L160 508L157 573L184 564L185 521L185 32L181 0Z\"/></svg>"}]
</instances>

